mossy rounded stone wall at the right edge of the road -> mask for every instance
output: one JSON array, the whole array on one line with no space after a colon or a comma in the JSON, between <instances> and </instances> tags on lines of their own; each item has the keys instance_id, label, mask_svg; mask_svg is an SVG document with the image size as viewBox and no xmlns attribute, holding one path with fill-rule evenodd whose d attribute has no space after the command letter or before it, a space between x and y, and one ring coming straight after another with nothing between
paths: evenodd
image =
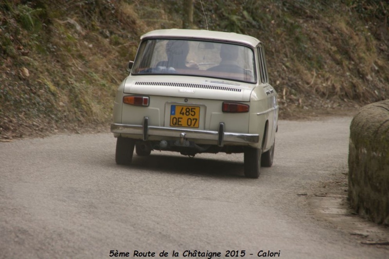
<instances>
[{"instance_id":1,"label":"mossy rounded stone wall at the right edge of the road","mask_svg":"<svg viewBox=\"0 0 389 259\"><path fill-rule=\"evenodd\" d=\"M351 122L348 195L362 217L389 225L389 100L362 107Z\"/></svg>"}]
</instances>

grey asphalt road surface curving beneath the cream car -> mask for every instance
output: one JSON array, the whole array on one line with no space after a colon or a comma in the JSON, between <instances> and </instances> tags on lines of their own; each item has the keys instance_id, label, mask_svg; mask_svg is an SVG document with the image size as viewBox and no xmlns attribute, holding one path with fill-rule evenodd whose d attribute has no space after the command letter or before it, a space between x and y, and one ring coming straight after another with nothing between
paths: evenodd
<instances>
[{"instance_id":1,"label":"grey asphalt road surface curving beneath the cream car","mask_svg":"<svg viewBox=\"0 0 389 259\"><path fill-rule=\"evenodd\" d=\"M0 258L389 258L297 195L347 173L350 121L280 121L259 179L243 176L241 154L118 166L110 133L0 142Z\"/></svg>"}]
</instances>

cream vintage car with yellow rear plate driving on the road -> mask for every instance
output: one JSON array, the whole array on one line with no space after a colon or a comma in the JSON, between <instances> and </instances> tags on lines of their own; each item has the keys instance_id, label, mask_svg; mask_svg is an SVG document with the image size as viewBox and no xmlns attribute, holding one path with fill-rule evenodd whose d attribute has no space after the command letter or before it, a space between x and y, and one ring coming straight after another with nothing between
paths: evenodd
<instances>
[{"instance_id":1,"label":"cream vintage car with yellow rear plate driving on the road","mask_svg":"<svg viewBox=\"0 0 389 259\"><path fill-rule=\"evenodd\" d=\"M273 163L278 121L263 44L226 32L168 29L141 36L119 86L116 163L153 150L244 153L244 174Z\"/></svg>"}]
</instances>

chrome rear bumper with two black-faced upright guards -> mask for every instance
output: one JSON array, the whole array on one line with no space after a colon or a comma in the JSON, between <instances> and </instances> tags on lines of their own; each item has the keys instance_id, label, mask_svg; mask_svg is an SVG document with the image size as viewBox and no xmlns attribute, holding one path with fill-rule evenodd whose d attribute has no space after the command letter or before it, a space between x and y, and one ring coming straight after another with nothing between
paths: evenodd
<instances>
[{"instance_id":1,"label":"chrome rear bumper with two black-faced upright guards","mask_svg":"<svg viewBox=\"0 0 389 259\"><path fill-rule=\"evenodd\" d=\"M220 123L218 131L178 129L149 126L147 117L143 118L142 125L112 123L111 132L115 134L139 135L145 141L148 140L150 136L170 138L180 138L180 136L182 138L182 136L185 136L185 138L188 139L213 140L218 146L223 146L224 142L255 144L259 141L258 134L225 132L224 123Z\"/></svg>"}]
</instances>

